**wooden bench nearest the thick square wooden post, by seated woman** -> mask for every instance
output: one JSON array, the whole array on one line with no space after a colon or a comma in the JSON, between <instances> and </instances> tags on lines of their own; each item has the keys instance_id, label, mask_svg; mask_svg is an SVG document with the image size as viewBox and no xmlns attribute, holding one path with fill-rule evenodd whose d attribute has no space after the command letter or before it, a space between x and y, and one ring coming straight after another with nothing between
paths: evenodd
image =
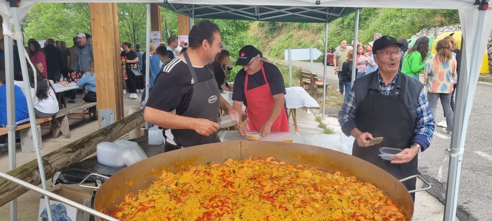
<instances>
[{"instance_id":1,"label":"wooden bench nearest the thick square wooden post, by seated woman","mask_svg":"<svg viewBox=\"0 0 492 221\"><path fill-rule=\"evenodd\" d=\"M61 109L51 120L51 135L53 138L58 138L60 132L62 132L65 138L70 138L70 129L68 127L68 115L76 113L78 116L85 118L86 113L84 111L90 107L97 105L97 102L82 102L74 105L70 105L68 108ZM82 111L82 113L77 113ZM91 111L89 111L89 116L91 116Z\"/></svg>"}]
</instances>

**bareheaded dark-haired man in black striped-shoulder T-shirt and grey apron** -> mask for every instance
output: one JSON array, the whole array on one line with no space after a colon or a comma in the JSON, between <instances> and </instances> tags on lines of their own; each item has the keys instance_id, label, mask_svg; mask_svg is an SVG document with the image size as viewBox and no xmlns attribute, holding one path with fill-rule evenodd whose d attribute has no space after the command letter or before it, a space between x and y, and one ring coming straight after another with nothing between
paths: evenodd
<instances>
[{"instance_id":1,"label":"bareheaded dark-haired man in black striped-shoulder T-shirt and grey apron","mask_svg":"<svg viewBox=\"0 0 492 221\"><path fill-rule=\"evenodd\" d=\"M194 25L184 53L157 75L145 106L146 121L164 128L165 152L220 142L219 108L239 114L218 91L211 62L220 52L220 29L209 20Z\"/></svg>"}]
</instances>

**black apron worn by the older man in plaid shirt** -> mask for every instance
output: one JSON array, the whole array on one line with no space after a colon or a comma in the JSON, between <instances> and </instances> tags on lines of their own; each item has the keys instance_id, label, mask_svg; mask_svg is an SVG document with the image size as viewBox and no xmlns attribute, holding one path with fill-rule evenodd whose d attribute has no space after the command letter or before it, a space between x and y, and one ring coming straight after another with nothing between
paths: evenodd
<instances>
[{"instance_id":1,"label":"black apron worn by the older man in plaid shirt","mask_svg":"<svg viewBox=\"0 0 492 221\"><path fill-rule=\"evenodd\" d=\"M352 155L379 166L400 180L417 174L418 157L415 156L406 164L392 164L378 156L380 147L410 148L411 140L415 136L416 122L408 113L401 93L398 90L394 91L400 96L368 94L357 104L357 128L363 133L370 133L373 138L384 139L381 143L369 147L360 147L355 140ZM415 190L415 183L415 178L402 182L408 191ZM415 201L415 193L410 195Z\"/></svg>"}]
</instances>

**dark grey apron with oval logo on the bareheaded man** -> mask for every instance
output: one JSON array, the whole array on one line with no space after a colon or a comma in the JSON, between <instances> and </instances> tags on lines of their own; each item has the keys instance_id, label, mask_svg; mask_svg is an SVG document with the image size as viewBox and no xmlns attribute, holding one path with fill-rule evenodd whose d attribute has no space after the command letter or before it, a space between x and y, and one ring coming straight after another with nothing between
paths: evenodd
<instances>
[{"instance_id":1,"label":"dark grey apron with oval logo on the bareheaded man","mask_svg":"<svg viewBox=\"0 0 492 221\"><path fill-rule=\"evenodd\" d=\"M218 91L218 86L217 82L215 81L214 73L207 65L205 65L205 67L207 67L212 74L212 78L206 82L198 83L198 78L196 77L195 70L191 65L186 51L184 52L184 59L186 60L186 64L188 65L188 69L195 83L193 84L193 94L191 95L191 101L182 116L192 118L204 118L213 122L217 122L217 113L220 107L220 93ZM164 152L179 149L182 147L220 142L220 138L218 137L217 132L214 132L209 136L203 136L201 134L198 134L194 130L171 129L171 133L174 136L174 141L176 142L177 146L166 142Z\"/></svg>"}]
</instances>

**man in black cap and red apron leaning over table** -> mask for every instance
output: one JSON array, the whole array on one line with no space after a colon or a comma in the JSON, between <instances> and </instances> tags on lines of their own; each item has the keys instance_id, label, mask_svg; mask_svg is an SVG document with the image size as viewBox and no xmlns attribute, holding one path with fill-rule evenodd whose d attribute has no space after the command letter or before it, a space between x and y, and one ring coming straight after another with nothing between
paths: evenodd
<instances>
[{"instance_id":1,"label":"man in black cap and red apron leaning over table","mask_svg":"<svg viewBox=\"0 0 492 221\"><path fill-rule=\"evenodd\" d=\"M277 66L261 61L258 49L251 45L239 50L236 65L244 68L234 80L233 107L240 112L245 104L249 130L259 131L262 137L270 131L288 132L285 84ZM239 133L246 136L244 129Z\"/></svg>"}]
</instances>

